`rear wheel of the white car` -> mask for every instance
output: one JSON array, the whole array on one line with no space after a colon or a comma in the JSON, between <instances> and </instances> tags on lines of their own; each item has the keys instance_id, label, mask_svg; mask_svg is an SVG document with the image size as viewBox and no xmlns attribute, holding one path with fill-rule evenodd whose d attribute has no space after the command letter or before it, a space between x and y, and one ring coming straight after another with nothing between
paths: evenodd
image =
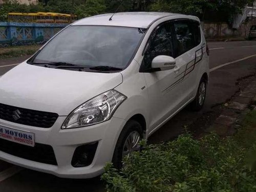
<instances>
[{"instance_id":1,"label":"rear wheel of the white car","mask_svg":"<svg viewBox=\"0 0 256 192\"><path fill-rule=\"evenodd\" d=\"M207 80L205 78L202 78L199 83L196 98L194 99L194 101L191 102L191 109L193 111L200 111L203 108L204 101L206 98L206 90Z\"/></svg>"}]
</instances>

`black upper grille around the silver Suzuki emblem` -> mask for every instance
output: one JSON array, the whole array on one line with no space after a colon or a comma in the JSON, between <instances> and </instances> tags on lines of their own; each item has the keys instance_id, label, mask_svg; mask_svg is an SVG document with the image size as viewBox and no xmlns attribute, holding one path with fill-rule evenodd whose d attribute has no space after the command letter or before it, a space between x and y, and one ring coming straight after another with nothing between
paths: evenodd
<instances>
[{"instance_id":1,"label":"black upper grille around the silver Suzuki emblem","mask_svg":"<svg viewBox=\"0 0 256 192\"><path fill-rule=\"evenodd\" d=\"M17 112L17 110L18 118L15 118L14 113ZM42 128L50 128L53 126L57 118L58 114L56 113L28 110L0 103L0 119L6 121Z\"/></svg>"}]
</instances>

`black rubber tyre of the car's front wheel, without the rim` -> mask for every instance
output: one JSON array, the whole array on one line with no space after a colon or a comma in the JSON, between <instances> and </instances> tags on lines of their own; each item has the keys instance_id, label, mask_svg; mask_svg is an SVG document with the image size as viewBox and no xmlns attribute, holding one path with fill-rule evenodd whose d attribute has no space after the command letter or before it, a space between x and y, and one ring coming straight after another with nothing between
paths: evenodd
<instances>
[{"instance_id":1,"label":"black rubber tyre of the car's front wheel, without the rim","mask_svg":"<svg viewBox=\"0 0 256 192\"><path fill-rule=\"evenodd\" d=\"M123 159L123 152L125 151L125 142L131 136L131 134L136 133L139 135L139 141L143 138L143 131L142 126L139 122L135 120L129 120L117 140L112 163L115 168L121 169L123 166L122 159ZM138 146L140 148L140 146ZM138 148L138 150L140 150ZM134 150L134 151L138 151Z\"/></svg>"}]
</instances>

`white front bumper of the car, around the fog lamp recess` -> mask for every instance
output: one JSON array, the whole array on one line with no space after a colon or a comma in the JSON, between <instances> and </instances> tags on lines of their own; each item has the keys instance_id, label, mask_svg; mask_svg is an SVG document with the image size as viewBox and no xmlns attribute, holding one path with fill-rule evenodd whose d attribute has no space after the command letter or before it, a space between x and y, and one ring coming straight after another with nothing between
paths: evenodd
<instances>
[{"instance_id":1,"label":"white front bumper of the car, around the fog lamp recess","mask_svg":"<svg viewBox=\"0 0 256 192\"><path fill-rule=\"evenodd\" d=\"M0 151L0 159L40 172L53 174L62 178L93 178L103 173L106 162L111 162L115 145L125 120L113 117L111 120L78 129L61 130L66 117L58 117L50 129L16 124L0 119L2 126L35 134L35 142L53 147L58 165L39 163L19 158ZM91 165L73 167L72 157L78 146L98 142Z\"/></svg>"}]
</instances>

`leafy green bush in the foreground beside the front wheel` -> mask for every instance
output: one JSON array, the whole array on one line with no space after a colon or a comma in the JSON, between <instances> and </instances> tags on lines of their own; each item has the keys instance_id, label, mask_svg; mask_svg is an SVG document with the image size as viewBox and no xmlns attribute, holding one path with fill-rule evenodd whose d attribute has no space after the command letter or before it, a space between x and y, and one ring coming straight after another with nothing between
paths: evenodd
<instances>
[{"instance_id":1,"label":"leafy green bush in the foreground beside the front wheel","mask_svg":"<svg viewBox=\"0 0 256 192\"><path fill-rule=\"evenodd\" d=\"M256 152L255 145L251 151ZM166 144L145 146L125 158L120 171L106 165L102 179L113 192L252 192L256 172L246 166L247 152L232 138L210 134L195 140L184 134Z\"/></svg>"}]
</instances>

